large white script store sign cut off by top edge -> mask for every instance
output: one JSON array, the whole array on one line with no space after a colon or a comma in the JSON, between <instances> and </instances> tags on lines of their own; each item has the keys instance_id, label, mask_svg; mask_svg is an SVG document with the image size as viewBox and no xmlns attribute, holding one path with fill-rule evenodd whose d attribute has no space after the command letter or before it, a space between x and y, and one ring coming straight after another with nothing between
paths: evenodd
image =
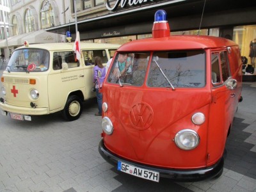
<instances>
[{"instance_id":1,"label":"large white script store sign cut off by top edge","mask_svg":"<svg viewBox=\"0 0 256 192\"><path fill-rule=\"evenodd\" d=\"M125 8L127 4L128 6L134 6L138 4L148 3L150 1L154 1L154 0L116 0L116 3L114 4L114 6L111 7L109 0L107 0L106 7L108 8L109 11L115 11L116 8L118 8L119 4L121 8Z\"/></svg>"}]
</instances>

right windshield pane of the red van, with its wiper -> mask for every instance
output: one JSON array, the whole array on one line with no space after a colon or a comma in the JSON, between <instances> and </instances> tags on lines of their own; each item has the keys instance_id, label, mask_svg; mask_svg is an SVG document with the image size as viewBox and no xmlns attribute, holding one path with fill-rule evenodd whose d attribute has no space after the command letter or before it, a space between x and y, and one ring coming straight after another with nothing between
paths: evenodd
<instances>
[{"instance_id":1,"label":"right windshield pane of the red van, with its wiper","mask_svg":"<svg viewBox=\"0 0 256 192\"><path fill-rule=\"evenodd\" d=\"M204 87L205 52L154 52L147 84L152 87Z\"/></svg>"}]
</instances>

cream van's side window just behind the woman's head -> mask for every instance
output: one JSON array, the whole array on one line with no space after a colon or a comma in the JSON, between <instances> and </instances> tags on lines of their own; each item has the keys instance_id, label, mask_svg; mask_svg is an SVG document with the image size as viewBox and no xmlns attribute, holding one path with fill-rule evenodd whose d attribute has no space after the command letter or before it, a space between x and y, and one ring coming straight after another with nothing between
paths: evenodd
<instances>
[{"instance_id":1,"label":"cream van's side window just behind the woman's head","mask_svg":"<svg viewBox=\"0 0 256 192\"><path fill-rule=\"evenodd\" d=\"M85 65L94 65L94 59L96 56L99 56L102 60L102 63L108 62L108 55L106 50L83 50L83 58Z\"/></svg>"}]
</instances>

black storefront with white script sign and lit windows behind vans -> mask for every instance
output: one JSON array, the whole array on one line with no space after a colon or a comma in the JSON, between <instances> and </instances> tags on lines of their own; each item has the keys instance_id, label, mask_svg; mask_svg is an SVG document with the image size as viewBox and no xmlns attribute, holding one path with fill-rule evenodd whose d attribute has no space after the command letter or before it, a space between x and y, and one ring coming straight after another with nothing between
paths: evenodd
<instances>
[{"instance_id":1,"label":"black storefront with white script sign and lit windows behind vans","mask_svg":"<svg viewBox=\"0 0 256 192\"><path fill-rule=\"evenodd\" d=\"M168 14L171 35L213 35L229 38L239 44L241 54L247 58L250 41L256 38L254 0L106 0L104 6L103 15L91 15L89 19L84 19L84 15L88 17L84 13L77 17L77 30L80 32L81 41L124 44L129 39L150 37L154 13L159 9ZM46 31L63 35L70 31L72 40L75 40L75 26L73 22Z\"/></svg>"}]
</instances>

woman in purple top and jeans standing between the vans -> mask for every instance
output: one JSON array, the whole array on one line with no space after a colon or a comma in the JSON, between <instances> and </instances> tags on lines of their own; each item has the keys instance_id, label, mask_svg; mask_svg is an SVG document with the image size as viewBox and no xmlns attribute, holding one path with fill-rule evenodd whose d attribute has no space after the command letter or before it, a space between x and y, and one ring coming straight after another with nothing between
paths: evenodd
<instances>
[{"instance_id":1,"label":"woman in purple top and jeans standing between the vans","mask_svg":"<svg viewBox=\"0 0 256 192\"><path fill-rule=\"evenodd\" d=\"M95 67L93 67L93 83L95 83L96 96L98 102L99 112L95 113L96 116L102 115L102 93L100 93L100 88L102 88L102 83L106 77L106 68L102 65L101 58L99 56L95 57Z\"/></svg>"}]
</instances>

